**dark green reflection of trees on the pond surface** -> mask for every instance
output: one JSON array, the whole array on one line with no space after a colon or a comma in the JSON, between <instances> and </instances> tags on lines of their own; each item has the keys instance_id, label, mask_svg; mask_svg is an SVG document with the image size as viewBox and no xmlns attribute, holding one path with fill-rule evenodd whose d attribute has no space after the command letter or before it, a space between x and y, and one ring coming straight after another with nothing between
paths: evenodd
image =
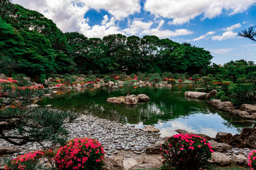
<instances>
[{"instance_id":1,"label":"dark green reflection of trees on the pond surface","mask_svg":"<svg viewBox=\"0 0 256 170\"><path fill-rule=\"evenodd\" d=\"M118 91L108 94L108 89L68 93L56 96L53 99L45 99L41 104L52 104L52 106L60 110L72 110L74 108L75 111L81 113L87 110L97 117L129 124L138 124L139 122L157 124L159 120L166 121L195 113L217 113L211 104L206 101L200 100L198 102L194 99L186 99L184 92L188 89L189 85L183 85L181 89L175 86L172 89L141 88L138 89L137 94L147 94L150 97L150 101L138 103L134 106L107 103L106 99L108 97L122 96ZM181 92L179 92L180 90ZM230 115L220 115L225 120L223 124L228 127L232 125L241 127L240 124L233 123L235 118L230 117Z\"/></svg>"}]
</instances>

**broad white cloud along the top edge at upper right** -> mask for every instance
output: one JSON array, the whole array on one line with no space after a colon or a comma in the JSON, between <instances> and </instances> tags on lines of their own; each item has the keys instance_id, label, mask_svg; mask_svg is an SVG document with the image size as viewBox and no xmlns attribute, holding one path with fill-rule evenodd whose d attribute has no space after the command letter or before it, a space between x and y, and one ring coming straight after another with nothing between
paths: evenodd
<instances>
[{"instance_id":1,"label":"broad white cloud along the top edge at upper right","mask_svg":"<svg viewBox=\"0 0 256 170\"><path fill-rule=\"evenodd\" d=\"M146 0L145 11L156 17L171 18L168 24L184 24L189 20L204 15L204 18L214 18L227 10L228 15L246 11L256 0Z\"/></svg>"}]
</instances>

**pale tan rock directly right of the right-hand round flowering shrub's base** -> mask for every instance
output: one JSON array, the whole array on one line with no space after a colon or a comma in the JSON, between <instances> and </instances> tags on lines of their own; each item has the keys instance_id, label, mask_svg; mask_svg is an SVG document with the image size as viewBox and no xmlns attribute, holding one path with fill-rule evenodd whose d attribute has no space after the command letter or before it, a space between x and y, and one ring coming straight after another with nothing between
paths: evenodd
<instances>
[{"instance_id":1,"label":"pale tan rock directly right of the right-hand round flowering shrub's base","mask_svg":"<svg viewBox=\"0 0 256 170\"><path fill-rule=\"evenodd\" d=\"M225 153L214 152L209 162L218 164L220 166L227 166L232 163L231 157L228 157Z\"/></svg>"}]
</instances>

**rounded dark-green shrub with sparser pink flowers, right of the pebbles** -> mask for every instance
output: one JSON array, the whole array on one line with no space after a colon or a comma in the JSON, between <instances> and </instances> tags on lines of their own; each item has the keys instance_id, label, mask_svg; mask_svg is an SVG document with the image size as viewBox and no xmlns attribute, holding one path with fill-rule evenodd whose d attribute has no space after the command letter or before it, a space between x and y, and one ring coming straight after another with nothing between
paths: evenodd
<instances>
[{"instance_id":1,"label":"rounded dark-green shrub with sparser pink flowers, right of the pebbles","mask_svg":"<svg viewBox=\"0 0 256 170\"><path fill-rule=\"evenodd\" d=\"M199 169L211 158L211 144L193 134L176 134L161 146L164 168Z\"/></svg>"}]
</instances>

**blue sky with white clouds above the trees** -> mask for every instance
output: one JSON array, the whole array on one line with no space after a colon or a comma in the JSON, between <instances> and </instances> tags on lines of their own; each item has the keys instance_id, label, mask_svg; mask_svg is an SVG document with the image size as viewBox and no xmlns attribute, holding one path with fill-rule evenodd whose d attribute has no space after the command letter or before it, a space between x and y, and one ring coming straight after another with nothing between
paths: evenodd
<instances>
[{"instance_id":1,"label":"blue sky with white clouds above the trees","mask_svg":"<svg viewBox=\"0 0 256 170\"><path fill-rule=\"evenodd\" d=\"M212 62L256 62L256 42L237 32L256 25L256 0L12 0L88 38L155 35L209 50Z\"/></svg>"}]
</instances>

